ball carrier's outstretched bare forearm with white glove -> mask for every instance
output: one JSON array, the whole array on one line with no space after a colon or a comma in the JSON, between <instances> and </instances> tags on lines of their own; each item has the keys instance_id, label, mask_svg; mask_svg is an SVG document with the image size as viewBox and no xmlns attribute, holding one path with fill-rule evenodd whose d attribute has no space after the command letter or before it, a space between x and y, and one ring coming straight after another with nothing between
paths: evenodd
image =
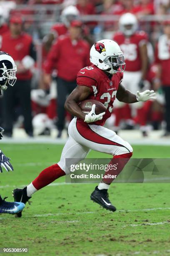
<instances>
[{"instance_id":1,"label":"ball carrier's outstretched bare forearm with white glove","mask_svg":"<svg viewBox=\"0 0 170 256\"><path fill-rule=\"evenodd\" d=\"M117 94L117 100L125 103L135 103L138 101L155 100L156 94L153 90L145 90L144 92L137 92L137 95L133 94L120 83Z\"/></svg>"}]
</instances>

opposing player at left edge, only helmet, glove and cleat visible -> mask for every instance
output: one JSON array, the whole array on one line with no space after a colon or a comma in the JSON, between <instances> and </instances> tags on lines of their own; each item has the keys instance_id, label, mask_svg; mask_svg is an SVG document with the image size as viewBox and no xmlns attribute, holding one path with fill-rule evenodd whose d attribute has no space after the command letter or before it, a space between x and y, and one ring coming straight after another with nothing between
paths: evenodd
<instances>
[{"instance_id":1,"label":"opposing player at left edge, only helmet, glove and cleat visible","mask_svg":"<svg viewBox=\"0 0 170 256\"><path fill-rule=\"evenodd\" d=\"M9 85L13 86L16 81L15 72L17 67L15 66L13 58L7 53L0 51L0 94L1 90L7 90ZM2 133L4 129L0 127L0 140L2 139ZM10 158L6 157L0 150L0 173L2 173L2 167L7 171L13 171L13 166L10 164ZM15 214L20 212L25 207L22 202L6 202L5 199L0 196L0 213Z\"/></svg>"}]
</instances>

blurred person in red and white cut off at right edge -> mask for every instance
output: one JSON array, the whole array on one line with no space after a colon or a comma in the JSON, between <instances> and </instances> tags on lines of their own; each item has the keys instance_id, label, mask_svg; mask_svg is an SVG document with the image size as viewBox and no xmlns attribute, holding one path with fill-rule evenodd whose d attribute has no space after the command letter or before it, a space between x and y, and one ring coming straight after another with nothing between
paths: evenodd
<instances>
[{"instance_id":1,"label":"blurred person in red and white cut off at right edge","mask_svg":"<svg viewBox=\"0 0 170 256\"><path fill-rule=\"evenodd\" d=\"M155 89L162 86L165 94L166 131L163 136L167 137L170 136L170 20L163 23L163 32L155 50L155 62L158 66Z\"/></svg>"}]
</instances>

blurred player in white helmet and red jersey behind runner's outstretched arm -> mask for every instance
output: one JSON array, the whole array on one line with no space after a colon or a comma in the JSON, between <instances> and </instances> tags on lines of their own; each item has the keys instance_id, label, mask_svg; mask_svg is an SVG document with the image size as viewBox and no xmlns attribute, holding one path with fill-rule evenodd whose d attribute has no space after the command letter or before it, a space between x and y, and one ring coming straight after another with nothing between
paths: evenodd
<instances>
[{"instance_id":1,"label":"blurred player in white helmet and red jersey behind runner's outstretched arm","mask_svg":"<svg viewBox=\"0 0 170 256\"><path fill-rule=\"evenodd\" d=\"M119 20L120 31L115 33L113 40L120 45L120 49L125 54L126 71L124 72L124 84L126 89L135 93L138 90L148 89L145 79L148 71L148 52L147 43L148 36L144 31L137 31L138 20L135 15L131 13L125 13ZM115 110L116 125L118 126L120 120L127 119L128 126L133 127L132 115L140 115L140 126L143 135L146 135L145 120L143 116L143 102L140 104L133 104L129 106L125 103L117 103L117 109Z\"/></svg>"}]
</instances>

